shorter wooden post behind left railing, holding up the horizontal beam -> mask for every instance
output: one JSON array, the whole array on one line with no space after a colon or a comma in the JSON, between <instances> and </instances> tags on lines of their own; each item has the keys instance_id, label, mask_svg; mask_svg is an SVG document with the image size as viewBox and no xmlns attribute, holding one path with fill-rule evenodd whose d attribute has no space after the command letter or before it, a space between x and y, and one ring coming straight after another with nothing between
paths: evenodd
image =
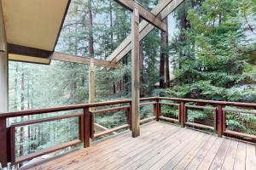
<instances>
[{"instance_id":1,"label":"shorter wooden post behind left railing, holding up the horizontal beam","mask_svg":"<svg viewBox=\"0 0 256 170\"><path fill-rule=\"evenodd\" d=\"M95 65L94 59L90 59L90 69L89 69L89 103L95 103L96 88L95 88ZM90 111L95 111L95 108L90 108Z\"/></svg>"}]
</instances>

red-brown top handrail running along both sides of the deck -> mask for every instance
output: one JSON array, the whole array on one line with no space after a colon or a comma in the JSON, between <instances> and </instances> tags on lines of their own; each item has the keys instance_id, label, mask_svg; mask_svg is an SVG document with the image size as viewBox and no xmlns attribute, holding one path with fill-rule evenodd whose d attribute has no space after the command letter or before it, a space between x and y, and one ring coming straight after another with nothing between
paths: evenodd
<instances>
[{"instance_id":1,"label":"red-brown top handrail running along both sides of the deck","mask_svg":"<svg viewBox=\"0 0 256 170\"><path fill-rule=\"evenodd\" d=\"M147 101L147 100L153 100L153 99L166 99L166 100L172 100L172 101L197 102L197 103L206 103L206 104L212 104L212 105L232 105L232 106L243 106L243 107L256 108L256 103L239 103L239 102L204 100L204 99L150 97L150 98L141 98L140 100ZM16 117L16 116L30 116L30 115L38 115L38 114L51 113L51 112L57 112L57 111L79 110L79 109L84 109L86 107L99 107L99 106L105 106L105 105L118 105L118 104L125 104L125 103L126 104L131 103L131 99L104 101L104 102L81 104L81 105L67 105L67 106L52 107L52 108L47 108L47 109L5 112L5 113L0 113L0 117L9 118L9 117Z\"/></svg>"}]
</instances>

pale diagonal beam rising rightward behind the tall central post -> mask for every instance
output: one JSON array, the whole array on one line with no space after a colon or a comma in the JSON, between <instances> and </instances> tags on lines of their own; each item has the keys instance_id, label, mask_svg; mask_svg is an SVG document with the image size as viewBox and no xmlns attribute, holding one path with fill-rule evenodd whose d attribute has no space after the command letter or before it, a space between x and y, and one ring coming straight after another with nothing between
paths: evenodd
<instances>
[{"instance_id":1,"label":"pale diagonal beam rising rightward behind the tall central post","mask_svg":"<svg viewBox=\"0 0 256 170\"><path fill-rule=\"evenodd\" d=\"M160 20L165 20L166 16L172 13L184 0L164 0L161 1L151 13L160 16ZM139 25L140 35L139 40L143 40L150 31L154 29L154 26L150 25L147 21L143 20ZM112 54L109 55L109 61L119 62L125 54L131 51L131 34L125 38L123 42L116 48Z\"/></svg>"}]
</instances>

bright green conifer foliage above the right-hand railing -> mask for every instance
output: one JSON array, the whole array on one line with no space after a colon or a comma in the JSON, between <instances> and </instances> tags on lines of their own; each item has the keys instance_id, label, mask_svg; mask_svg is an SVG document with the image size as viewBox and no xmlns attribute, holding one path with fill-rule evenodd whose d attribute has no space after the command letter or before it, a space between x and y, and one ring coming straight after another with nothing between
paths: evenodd
<instances>
[{"instance_id":1,"label":"bright green conifer foliage above the right-hand railing","mask_svg":"<svg viewBox=\"0 0 256 170\"><path fill-rule=\"evenodd\" d=\"M243 3L245 1L206 0L200 8L190 6L189 28L177 35L179 39L182 34L186 41L177 41L183 43L182 50L172 48L172 53L188 49L189 53L178 59L176 86L168 90L170 95L255 101L255 36L248 36L249 31L255 29L250 26L255 15L247 14L251 19L248 25L241 10ZM177 42L172 42L172 46Z\"/></svg>"}]
</instances>

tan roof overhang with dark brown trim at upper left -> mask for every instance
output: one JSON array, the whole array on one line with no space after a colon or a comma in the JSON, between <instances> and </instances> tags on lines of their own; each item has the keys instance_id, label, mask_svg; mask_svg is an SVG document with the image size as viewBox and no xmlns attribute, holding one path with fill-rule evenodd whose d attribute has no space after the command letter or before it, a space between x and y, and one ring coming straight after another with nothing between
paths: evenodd
<instances>
[{"instance_id":1,"label":"tan roof overhang with dark brown trim at upper left","mask_svg":"<svg viewBox=\"0 0 256 170\"><path fill-rule=\"evenodd\" d=\"M71 0L2 0L9 59L49 64Z\"/></svg>"}]
</instances>

